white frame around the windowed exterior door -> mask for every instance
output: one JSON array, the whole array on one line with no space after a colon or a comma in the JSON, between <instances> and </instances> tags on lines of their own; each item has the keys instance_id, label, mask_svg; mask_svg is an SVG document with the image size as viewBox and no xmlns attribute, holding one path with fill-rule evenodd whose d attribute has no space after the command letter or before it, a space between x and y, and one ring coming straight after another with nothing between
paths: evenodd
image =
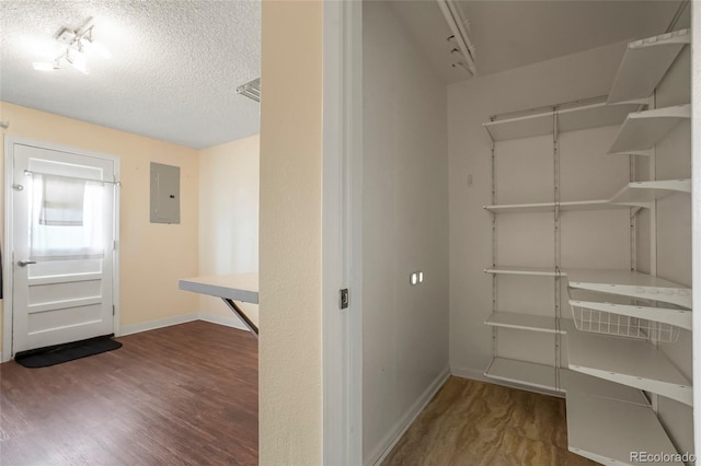
<instances>
[{"instance_id":1,"label":"white frame around the windowed exterior door","mask_svg":"<svg viewBox=\"0 0 701 466\"><path fill-rule=\"evenodd\" d=\"M12 234L12 217L13 217L13 203L14 203L14 189L12 188L13 182L13 166L14 166L14 144L32 145L35 148L47 149L58 152L68 152L77 155L90 156L93 159L101 159L110 161L114 164L114 180L117 182L117 189L114 196L114 241L116 247L113 249L114 258L112 261L112 290L113 290L113 304L114 315L112 321L112 328L115 336L120 335L119 328L119 180L122 179L120 165L122 161L117 155L104 154L100 152L87 151L79 148L55 144L51 142L36 141L33 139L20 138L16 136L4 137L4 244L2 245L2 362L11 360L14 354L12 352L12 317L13 317L13 266L14 258L12 257L12 251L14 251L14 238Z\"/></svg>"}]
</instances>

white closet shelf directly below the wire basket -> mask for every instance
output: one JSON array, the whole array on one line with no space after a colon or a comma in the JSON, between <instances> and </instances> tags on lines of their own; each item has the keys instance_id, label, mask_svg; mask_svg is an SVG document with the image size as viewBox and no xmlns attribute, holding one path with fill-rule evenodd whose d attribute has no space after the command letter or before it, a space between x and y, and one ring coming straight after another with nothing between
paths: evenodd
<instances>
[{"instance_id":1,"label":"white closet shelf directly below the wire basket","mask_svg":"<svg viewBox=\"0 0 701 466\"><path fill-rule=\"evenodd\" d=\"M648 341L584 331L566 340L571 370L692 405L689 380Z\"/></svg>"}]
</instances>

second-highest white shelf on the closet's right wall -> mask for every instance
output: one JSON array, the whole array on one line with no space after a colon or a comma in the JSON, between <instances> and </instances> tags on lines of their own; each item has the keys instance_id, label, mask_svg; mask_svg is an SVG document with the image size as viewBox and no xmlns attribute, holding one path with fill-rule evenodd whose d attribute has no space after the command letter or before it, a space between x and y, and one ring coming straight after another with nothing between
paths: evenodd
<instances>
[{"instance_id":1,"label":"second-highest white shelf on the closet's right wall","mask_svg":"<svg viewBox=\"0 0 701 466\"><path fill-rule=\"evenodd\" d=\"M691 118L691 105L656 108L628 115L618 131L610 154L645 155L682 120Z\"/></svg>"}]
</instances>

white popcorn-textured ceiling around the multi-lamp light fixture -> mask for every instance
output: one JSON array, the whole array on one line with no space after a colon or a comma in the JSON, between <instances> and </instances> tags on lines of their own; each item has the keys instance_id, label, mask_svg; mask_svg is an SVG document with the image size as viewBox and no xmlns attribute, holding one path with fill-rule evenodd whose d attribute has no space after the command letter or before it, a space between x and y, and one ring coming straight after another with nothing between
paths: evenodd
<instances>
[{"instance_id":1,"label":"white popcorn-textured ceiling around the multi-lamp light fixture","mask_svg":"<svg viewBox=\"0 0 701 466\"><path fill-rule=\"evenodd\" d=\"M89 75L32 68L90 16L112 59L91 58ZM260 61L258 1L0 1L2 101L182 145L258 132L258 104L235 89Z\"/></svg>"}]
</instances>

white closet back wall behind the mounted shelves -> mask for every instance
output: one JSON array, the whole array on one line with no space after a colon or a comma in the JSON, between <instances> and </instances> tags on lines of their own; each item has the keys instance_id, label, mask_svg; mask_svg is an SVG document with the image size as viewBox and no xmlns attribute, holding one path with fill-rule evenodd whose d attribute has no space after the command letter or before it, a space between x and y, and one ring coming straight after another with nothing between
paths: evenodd
<instances>
[{"instance_id":1,"label":"white closet back wall behind the mounted shelves","mask_svg":"<svg viewBox=\"0 0 701 466\"><path fill-rule=\"evenodd\" d=\"M492 278L483 271L492 264L492 217L482 208L491 203L491 140L482 128L482 124L489 121L490 116L501 113L606 95L618 70L623 50L624 44L614 44L448 86L450 368L453 374L480 378L492 358L492 331L484 325L485 318L492 312ZM604 139L614 136L614 130L610 128L590 131L608 131L609 135L604 136ZM576 141L582 137L586 139L586 135L583 133L586 131L567 135L561 140L561 149L567 149L573 154L577 150L586 151L586 147L582 148L582 143ZM518 193L530 196L521 197L522 202L536 201L537 198L543 201L540 196L548 196L544 201L550 200L552 198L552 138L548 136L517 142L519 142L520 153L519 149L512 147L508 141L501 143L498 148L497 163L502 161L497 166L497 173L502 175L497 188L499 202L515 200L516 196L519 196ZM522 153L524 150L527 152ZM508 170L507 165L514 166L514 163L504 165L507 161L505 158L510 158L516 164L512 173L505 173ZM563 164L565 164L563 168L570 163L571 168L567 171L576 174L578 168L572 165L575 162L576 156L563 158ZM625 162L623 159L622 163ZM472 185L468 184L469 175L472 175ZM502 183L504 176L512 182L520 177L520 182L509 188L508 183ZM565 172L563 176L566 176ZM562 180L563 189L565 180ZM584 196L588 189L586 184L576 185L573 184L574 180L576 176L571 176L567 183L571 189L563 190L563 200ZM605 187L599 186L599 188ZM577 213L578 217L571 217L568 221L563 215L563 232L576 231L577 220L582 219L582 214L586 217L588 213ZM519 220L524 220L524 215L529 215L528 221L532 223L529 223L526 229L516 226ZM499 219L498 228L499 258L510 260L515 263L514 265L543 267L553 265L552 214L502 217L504 219ZM549 220L550 223L548 223ZM514 225L513 229L509 228L510 224ZM519 238L514 235L524 236ZM508 244L513 244L514 247L508 248ZM566 247L566 238L563 237L563 265L567 260L570 264L578 260L576 255L568 255L574 249ZM499 291L516 286L517 281L525 283L522 286L525 293L530 293L533 298L540 295L544 303L548 303L545 310L552 310L551 281L544 282L536 278L514 279L509 283L501 284ZM507 296L499 295L501 303L508 306L508 301L505 299ZM516 304L515 300L512 302ZM520 303L525 302L528 300L520 301ZM508 308L505 307L503 311ZM543 307L536 305L529 311L543 313ZM541 352L543 358L549 358L549 361L542 362L552 362L554 359L552 339L522 334L525 333L517 335L514 331L502 331L501 336L504 338L499 339L499 343L507 345L502 348L505 351L504 356L513 356L524 350L522 346L508 347L509 337L514 336L529 338L528 346L532 345L533 349L540 348L538 352Z\"/></svg>"}]
</instances>

